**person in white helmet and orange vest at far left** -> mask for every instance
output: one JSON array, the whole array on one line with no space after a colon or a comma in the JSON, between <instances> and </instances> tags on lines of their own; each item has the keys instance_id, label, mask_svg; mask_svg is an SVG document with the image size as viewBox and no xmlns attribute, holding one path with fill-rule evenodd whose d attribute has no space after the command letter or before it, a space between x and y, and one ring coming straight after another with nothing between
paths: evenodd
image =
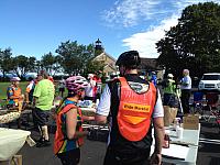
<instances>
[{"instance_id":1,"label":"person in white helmet and orange vest at far left","mask_svg":"<svg viewBox=\"0 0 220 165\"><path fill-rule=\"evenodd\" d=\"M8 96L8 108L18 108L19 110L22 109L22 102L24 99L24 96L22 95L21 88L19 87L20 78L19 77L12 77L11 85L7 89L7 96Z\"/></svg>"}]
</instances>

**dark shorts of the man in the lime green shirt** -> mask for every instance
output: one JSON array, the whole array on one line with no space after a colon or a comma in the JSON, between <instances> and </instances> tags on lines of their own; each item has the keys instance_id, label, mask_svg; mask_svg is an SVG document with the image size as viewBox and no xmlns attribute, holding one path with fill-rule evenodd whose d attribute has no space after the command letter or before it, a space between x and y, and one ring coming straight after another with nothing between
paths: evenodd
<instances>
[{"instance_id":1,"label":"dark shorts of the man in the lime green shirt","mask_svg":"<svg viewBox=\"0 0 220 165\"><path fill-rule=\"evenodd\" d=\"M35 108L33 110L33 118L37 125L40 127L47 125L50 119L50 111Z\"/></svg>"}]
</instances>

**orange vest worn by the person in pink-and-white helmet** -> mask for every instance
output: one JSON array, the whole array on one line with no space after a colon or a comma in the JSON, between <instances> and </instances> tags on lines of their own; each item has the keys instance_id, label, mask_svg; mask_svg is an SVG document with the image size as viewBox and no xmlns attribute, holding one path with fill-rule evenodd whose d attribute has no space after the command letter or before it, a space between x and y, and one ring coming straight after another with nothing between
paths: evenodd
<instances>
[{"instance_id":1,"label":"orange vest worn by the person in pink-and-white helmet","mask_svg":"<svg viewBox=\"0 0 220 165\"><path fill-rule=\"evenodd\" d=\"M67 105L65 106L58 113L56 117L56 133L55 133L55 139L54 139L54 153L58 154L61 150L65 151L65 145L67 143L67 139L65 139L64 134L63 134L63 130L62 130L62 116L66 112L68 112L72 108L76 108L75 105ZM81 117L81 110L77 107L77 111L79 113L79 116ZM82 127L79 127L79 130L77 130L79 132L82 132ZM78 146L81 146L84 143L84 139L82 138L78 138L77 139L77 144Z\"/></svg>"}]
</instances>

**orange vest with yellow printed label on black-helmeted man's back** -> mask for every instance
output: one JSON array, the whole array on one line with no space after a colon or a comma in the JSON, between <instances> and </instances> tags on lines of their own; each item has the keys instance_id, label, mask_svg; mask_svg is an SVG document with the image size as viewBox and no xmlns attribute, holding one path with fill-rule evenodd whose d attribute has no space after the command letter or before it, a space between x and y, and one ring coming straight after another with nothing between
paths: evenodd
<instances>
[{"instance_id":1,"label":"orange vest with yellow printed label on black-helmeted man's back","mask_svg":"<svg viewBox=\"0 0 220 165\"><path fill-rule=\"evenodd\" d=\"M144 94L133 91L124 77L121 82L119 112L117 116L119 131L129 141L140 141L148 132L151 117L156 101L156 88L150 82Z\"/></svg>"}]
</instances>

